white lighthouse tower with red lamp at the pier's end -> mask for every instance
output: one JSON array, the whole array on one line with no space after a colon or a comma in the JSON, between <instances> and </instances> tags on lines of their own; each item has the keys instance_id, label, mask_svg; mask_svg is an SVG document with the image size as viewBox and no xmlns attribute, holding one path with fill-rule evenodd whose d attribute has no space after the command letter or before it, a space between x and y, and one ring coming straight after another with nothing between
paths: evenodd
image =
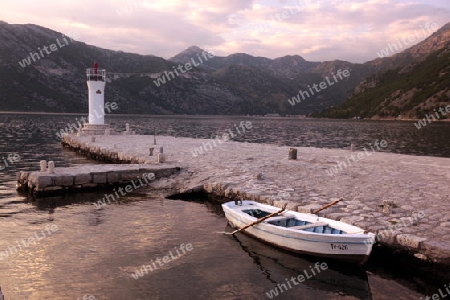
<instances>
[{"instance_id":1,"label":"white lighthouse tower with red lamp at the pier's end","mask_svg":"<svg viewBox=\"0 0 450 300\"><path fill-rule=\"evenodd\" d=\"M84 124L83 132L87 134L106 134L109 125L105 124L105 80L106 70L99 69L94 63L93 68L86 69L86 79L89 89L89 118Z\"/></svg>"}]
</instances>

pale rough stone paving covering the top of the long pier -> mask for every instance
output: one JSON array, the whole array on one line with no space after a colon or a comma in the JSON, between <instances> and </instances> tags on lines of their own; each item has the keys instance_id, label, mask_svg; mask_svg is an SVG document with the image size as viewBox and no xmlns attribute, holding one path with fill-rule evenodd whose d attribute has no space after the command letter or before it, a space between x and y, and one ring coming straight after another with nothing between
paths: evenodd
<instances>
[{"instance_id":1,"label":"pale rough stone paving covering the top of the long pier","mask_svg":"<svg viewBox=\"0 0 450 300\"><path fill-rule=\"evenodd\" d=\"M163 147L163 165L182 171L155 187L170 185L178 192L203 188L230 199L276 206L287 201L301 212L343 198L320 215L378 233L380 243L417 258L450 264L449 158L297 148L297 160L289 160L289 147L168 136L157 136L156 145L153 136L139 135L96 136L95 142L70 135L63 141L146 164L158 164L149 147L155 154ZM203 153L194 156L197 147ZM337 162L341 167L330 175Z\"/></svg>"}]
</instances>

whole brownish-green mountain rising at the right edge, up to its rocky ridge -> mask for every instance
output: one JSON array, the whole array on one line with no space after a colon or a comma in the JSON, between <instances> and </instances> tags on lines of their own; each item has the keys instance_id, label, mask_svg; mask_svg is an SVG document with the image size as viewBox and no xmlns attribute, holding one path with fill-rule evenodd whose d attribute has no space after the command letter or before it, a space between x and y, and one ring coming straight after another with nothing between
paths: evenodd
<instances>
[{"instance_id":1,"label":"whole brownish-green mountain rising at the right edge, up to its rocky ridge","mask_svg":"<svg viewBox=\"0 0 450 300\"><path fill-rule=\"evenodd\" d=\"M417 119L450 104L449 24L421 43L369 64L377 70L389 64L393 68L364 79L342 105L317 116Z\"/></svg>"}]
</instances>

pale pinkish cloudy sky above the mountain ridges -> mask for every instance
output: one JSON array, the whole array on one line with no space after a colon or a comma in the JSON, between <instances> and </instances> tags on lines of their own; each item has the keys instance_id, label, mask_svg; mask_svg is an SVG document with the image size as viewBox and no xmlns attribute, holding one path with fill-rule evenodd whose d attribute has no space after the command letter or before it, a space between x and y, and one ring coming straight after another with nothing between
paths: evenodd
<instances>
[{"instance_id":1,"label":"pale pinkish cloudy sky above the mountain ridges","mask_svg":"<svg viewBox=\"0 0 450 300\"><path fill-rule=\"evenodd\" d=\"M0 20L102 48L169 58L192 45L226 56L298 54L364 62L450 22L448 0L3 0ZM428 25L427 25L428 24Z\"/></svg>"}]
</instances>

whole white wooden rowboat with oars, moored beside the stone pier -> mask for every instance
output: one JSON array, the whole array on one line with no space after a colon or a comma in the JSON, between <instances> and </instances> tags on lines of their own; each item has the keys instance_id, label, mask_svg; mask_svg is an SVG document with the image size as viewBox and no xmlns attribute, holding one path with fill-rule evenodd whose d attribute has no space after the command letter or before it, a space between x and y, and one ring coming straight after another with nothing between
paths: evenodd
<instances>
[{"instance_id":1,"label":"whole white wooden rowboat with oars, moored beside the stone pier","mask_svg":"<svg viewBox=\"0 0 450 300\"><path fill-rule=\"evenodd\" d=\"M222 208L228 222L236 228L242 228L280 210L278 207L250 200L227 202L222 204ZM375 243L375 234L365 233L359 227L290 210L243 232L292 252L358 264L367 261Z\"/></svg>"}]
</instances>

